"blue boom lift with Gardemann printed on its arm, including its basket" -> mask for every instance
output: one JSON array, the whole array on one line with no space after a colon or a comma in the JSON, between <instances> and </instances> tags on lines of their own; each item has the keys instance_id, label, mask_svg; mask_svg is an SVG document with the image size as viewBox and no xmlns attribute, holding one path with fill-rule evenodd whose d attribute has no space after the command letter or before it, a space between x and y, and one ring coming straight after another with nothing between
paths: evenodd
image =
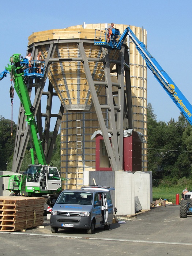
<instances>
[{"instance_id":1,"label":"blue boom lift with Gardemann printed on its arm, including its basket","mask_svg":"<svg viewBox=\"0 0 192 256\"><path fill-rule=\"evenodd\" d=\"M185 98L185 96L178 89L173 80L167 75L162 69L157 60L148 52L146 45L139 41L130 27L127 27L122 34L118 29L112 29L112 34L108 39L107 29L96 29L95 30L95 45L101 45L108 49L121 49L125 38L129 35L131 40L136 46L136 49L146 61L147 67L153 72L155 78L161 84L163 89L173 100L173 102L180 109L181 113L187 118L189 123L192 125L192 106L191 103Z\"/></svg>"}]
</instances>

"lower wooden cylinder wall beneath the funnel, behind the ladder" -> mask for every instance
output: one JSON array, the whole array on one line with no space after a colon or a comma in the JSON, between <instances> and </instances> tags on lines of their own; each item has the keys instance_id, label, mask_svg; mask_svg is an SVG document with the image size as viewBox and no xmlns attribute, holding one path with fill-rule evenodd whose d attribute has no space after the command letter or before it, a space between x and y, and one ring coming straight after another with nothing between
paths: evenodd
<instances>
[{"instance_id":1,"label":"lower wooden cylinder wall beneath the funnel, behind the ladder","mask_svg":"<svg viewBox=\"0 0 192 256\"><path fill-rule=\"evenodd\" d=\"M99 94L99 102L105 104L105 88ZM100 129L94 106L91 112L81 113L84 170L95 170L95 139L91 140L96 129ZM103 116L107 119L106 111ZM76 188L76 114L65 112L61 121L61 176L70 178L68 189ZM63 184L63 189L66 185Z\"/></svg>"}]
</instances>

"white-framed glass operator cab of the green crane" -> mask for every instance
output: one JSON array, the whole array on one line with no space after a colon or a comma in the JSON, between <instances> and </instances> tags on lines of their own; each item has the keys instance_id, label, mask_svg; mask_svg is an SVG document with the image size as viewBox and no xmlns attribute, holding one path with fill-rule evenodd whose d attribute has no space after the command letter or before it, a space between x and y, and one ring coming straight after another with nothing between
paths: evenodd
<instances>
[{"instance_id":1,"label":"white-framed glass operator cab of the green crane","mask_svg":"<svg viewBox=\"0 0 192 256\"><path fill-rule=\"evenodd\" d=\"M56 167L30 165L23 174L26 175L26 192L41 193L61 187L61 177Z\"/></svg>"}]
</instances>

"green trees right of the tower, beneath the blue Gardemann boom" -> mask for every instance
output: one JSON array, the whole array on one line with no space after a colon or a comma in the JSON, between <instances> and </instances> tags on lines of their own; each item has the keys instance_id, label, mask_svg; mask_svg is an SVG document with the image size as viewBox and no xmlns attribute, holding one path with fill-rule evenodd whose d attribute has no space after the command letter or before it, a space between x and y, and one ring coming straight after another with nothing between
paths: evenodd
<instances>
[{"instance_id":1,"label":"green trees right of the tower, beneath the blue Gardemann boom","mask_svg":"<svg viewBox=\"0 0 192 256\"><path fill-rule=\"evenodd\" d=\"M192 172L192 126L180 114L178 121L157 122L152 105L147 106L148 170L154 179L175 179Z\"/></svg>"}]
</instances>

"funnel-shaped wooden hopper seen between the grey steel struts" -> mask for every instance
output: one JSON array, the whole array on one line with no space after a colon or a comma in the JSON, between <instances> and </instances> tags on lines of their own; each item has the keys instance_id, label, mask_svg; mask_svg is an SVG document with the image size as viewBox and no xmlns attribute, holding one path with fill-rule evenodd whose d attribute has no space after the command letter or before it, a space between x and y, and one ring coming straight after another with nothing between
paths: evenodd
<instances>
[{"instance_id":1,"label":"funnel-shaped wooden hopper seen between the grey steel struts","mask_svg":"<svg viewBox=\"0 0 192 256\"><path fill-rule=\"evenodd\" d=\"M83 31L85 34L85 31ZM94 31L92 31L94 35ZM94 38L94 36L92 36ZM78 44L75 42L58 43L57 50L54 52L55 59L74 59L80 57ZM100 46L92 43L83 43L87 58L101 58L102 50ZM42 45L41 51L44 58L47 58L48 45ZM113 50L109 54L110 59L118 59L118 50ZM110 64L110 69L114 66ZM104 80L104 68L102 62L89 62L90 71L94 81ZM86 79L85 71L81 61L59 61L50 65L48 78L53 85L65 110L70 111L89 111L92 105L92 97L89 90L89 84ZM99 94L102 86L97 85Z\"/></svg>"}]
</instances>

